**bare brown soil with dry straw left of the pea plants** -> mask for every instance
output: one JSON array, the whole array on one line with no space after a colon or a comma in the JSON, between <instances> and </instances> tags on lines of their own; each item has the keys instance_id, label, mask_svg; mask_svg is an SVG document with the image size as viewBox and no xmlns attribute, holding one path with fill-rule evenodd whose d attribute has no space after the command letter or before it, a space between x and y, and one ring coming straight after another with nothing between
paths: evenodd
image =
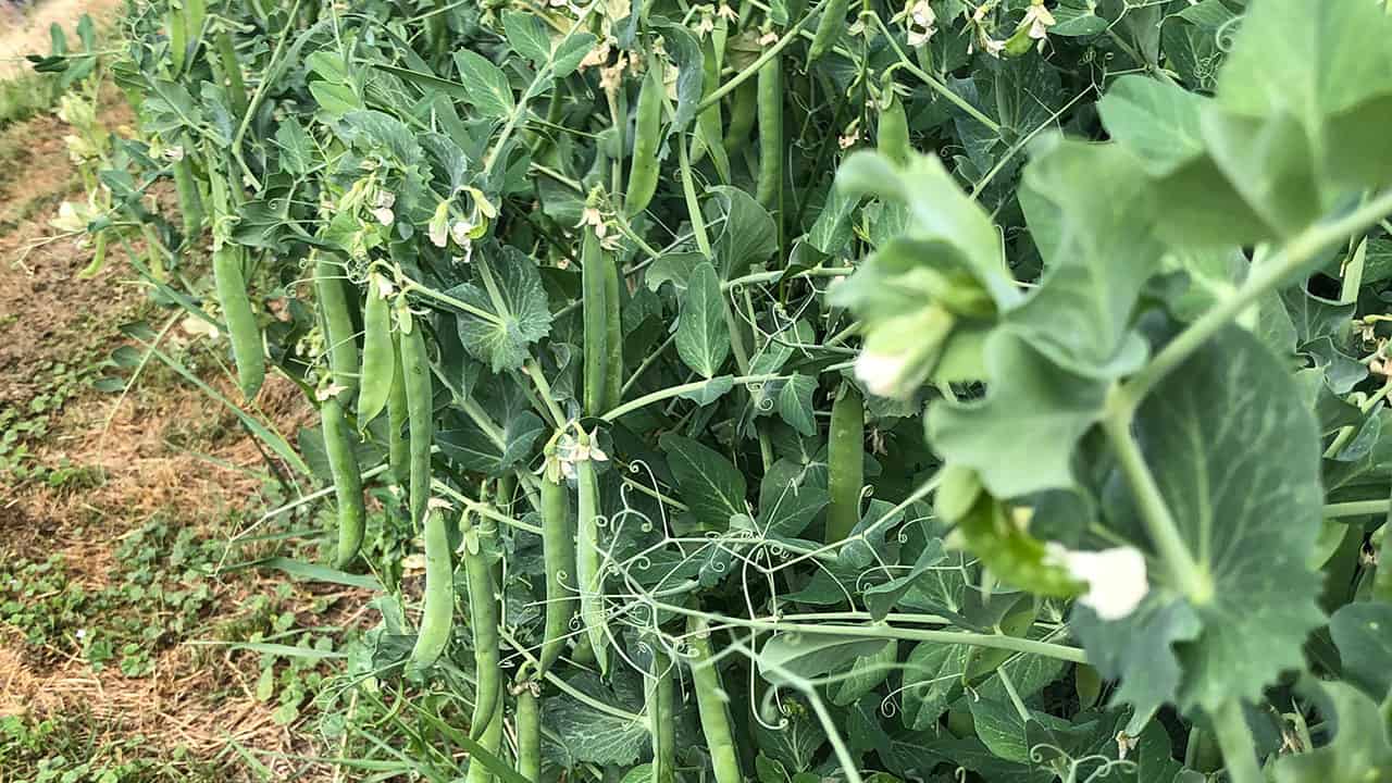
<instances>
[{"instance_id":1,"label":"bare brown soil with dry straw left of the pea plants","mask_svg":"<svg viewBox=\"0 0 1392 783\"><path fill-rule=\"evenodd\" d=\"M39 6L26 25L8 29L0 18L0 79L8 57L46 47L50 21L70 25L84 10L117 4L53 0ZM132 121L129 109L113 88L109 92L103 118L122 132ZM42 403L47 425L31 433L28 464L68 471L47 474L49 479L17 478L4 470L0 453L0 566L57 553L75 571L74 581L95 591L121 578L120 543L153 518L226 539L232 532L228 518L259 510L253 504L260 502L266 467L235 418L173 373L152 371L120 401L92 389L93 368L128 343L122 323L167 315L153 312L120 251L111 252L103 272L84 280L78 273L90 262L92 248L49 241L56 234L49 223L63 201L84 199L63 141L67 132L52 116L0 130L0 425L7 410L22 421ZM193 337L174 327L170 340L178 347ZM206 380L231 390L216 372ZM65 392L56 393L56 383ZM298 389L269 379L258 403L294 437L305 419ZM53 475L64 479L52 481ZM308 610L316 600L324 605L322 591L295 587L287 598L283 584L252 571L214 577L210 587L207 628L221 627L213 624L216 616L223 616L223 626L235 621L258 595L274 596L290 612ZM191 754L191 763L217 758L219 765L237 766L230 744L270 754L263 758L309 751L294 724L273 719L276 704L258 697L258 656L214 649L181 639L155 644L153 672L129 677L114 666L95 670L71 648L36 653L0 621L0 719L81 711L93 734L102 734L99 744L142 736L168 748L171 758ZM280 763L266 765L291 773ZM0 770L0 780L11 772ZM294 775L312 782L322 779L319 772L296 765ZM228 770L213 779L244 776Z\"/></svg>"}]
</instances>

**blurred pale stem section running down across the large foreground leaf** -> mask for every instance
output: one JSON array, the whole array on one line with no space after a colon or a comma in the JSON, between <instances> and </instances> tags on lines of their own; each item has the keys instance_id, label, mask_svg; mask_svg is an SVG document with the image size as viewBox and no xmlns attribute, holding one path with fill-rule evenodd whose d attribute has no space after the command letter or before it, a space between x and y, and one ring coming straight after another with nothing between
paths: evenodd
<instances>
[{"instance_id":1,"label":"blurred pale stem section running down across the large foreground leaf","mask_svg":"<svg viewBox=\"0 0 1392 783\"><path fill-rule=\"evenodd\" d=\"M1150 472L1150 465L1146 464L1146 457L1140 453L1136 437L1132 436L1130 422L1129 411L1126 415L1121 415L1114 410L1102 419L1102 429L1107 432L1107 439L1126 475L1126 483L1130 485L1132 493L1136 496L1136 504L1151 543L1155 545L1169 568L1175 587L1190 600L1204 603L1212 598L1212 581L1200 568L1193 553L1189 552L1189 545L1179 535L1179 525L1175 522L1165 497L1160 493L1160 485L1155 483L1155 476Z\"/></svg>"}]
</instances>

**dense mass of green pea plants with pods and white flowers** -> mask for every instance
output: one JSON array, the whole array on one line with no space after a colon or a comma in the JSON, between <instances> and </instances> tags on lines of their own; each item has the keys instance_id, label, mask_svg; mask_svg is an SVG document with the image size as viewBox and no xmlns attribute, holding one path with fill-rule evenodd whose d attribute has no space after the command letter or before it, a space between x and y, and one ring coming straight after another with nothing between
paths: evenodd
<instances>
[{"instance_id":1,"label":"dense mass of green pea plants with pods and white flowers","mask_svg":"<svg viewBox=\"0 0 1392 783\"><path fill-rule=\"evenodd\" d=\"M1385 3L125 28L89 228L381 591L365 775L1392 775Z\"/></svg>"}]
</instances>

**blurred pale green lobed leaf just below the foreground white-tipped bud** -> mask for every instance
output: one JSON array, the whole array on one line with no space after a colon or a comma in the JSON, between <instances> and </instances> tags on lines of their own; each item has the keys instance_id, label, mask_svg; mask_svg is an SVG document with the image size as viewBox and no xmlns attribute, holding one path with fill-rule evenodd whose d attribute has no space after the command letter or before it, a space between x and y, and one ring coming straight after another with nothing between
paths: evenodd
<instances>
[{"instance_id":1,"label":"blurred pale green lobed leaf just below the foreground white-tipped bud","mask_svg":"<svg viewBox=\"0 0 1392 783\"><path fill-rule=\"evenodd\" d=\"M1101 418L1105 385L1059 368L1008 329L987 340L986 365L986 400L931 405L928 442L995 497L1073 486L1073 450Z\"/></svg>"}]
</instances>

